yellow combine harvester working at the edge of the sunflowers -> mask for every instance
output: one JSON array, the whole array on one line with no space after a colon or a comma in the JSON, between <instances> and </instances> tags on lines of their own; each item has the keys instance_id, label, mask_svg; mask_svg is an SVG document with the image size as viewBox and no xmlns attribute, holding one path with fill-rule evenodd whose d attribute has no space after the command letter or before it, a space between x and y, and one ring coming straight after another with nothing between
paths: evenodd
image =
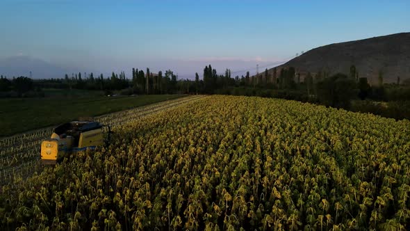
<instances>
[{"instance_id":1,"label":"yellow combine harvester working at the edge of the sunflowers","mask_svg":"<svg viewBox=\"0 0 410 231\"><path fill-rule=\"evenodd\" d=\"M104 145L103 125L94 121L72 121L54 129L51 138L41 143L43 164L57 164L72 152ZM110 129L108 127L108 136Z\"/></svg>"}]
</instances>

